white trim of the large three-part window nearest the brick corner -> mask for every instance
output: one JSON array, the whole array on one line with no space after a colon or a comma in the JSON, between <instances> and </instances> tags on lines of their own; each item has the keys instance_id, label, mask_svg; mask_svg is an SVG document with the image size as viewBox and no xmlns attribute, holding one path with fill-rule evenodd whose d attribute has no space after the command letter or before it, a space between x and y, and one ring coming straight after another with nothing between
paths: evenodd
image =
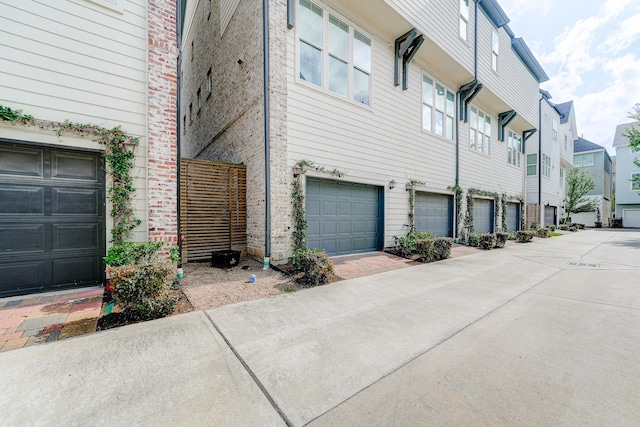
<instances>
[{"instance_id":1,"label":"white trim of the large three-part window nearest the brick corner","mask_svg":"<svg viewBox=\"0 0 640 427\"><path fill-rule=\"evenodd\" d=\"M330 94L338 99L342 99L350 102L351 104L358 105L364 108L371 109L373 107L373 76L375 72L374 66L374 38L367 32L362 30L359 26L354 25L349 19L346 19L340 13L334 12L333 9L326 7L324 4L320 4L314 0L305 0L311 3L311 5L318 7L322 10L322 46L318 46L316 43L306 40L300 34L300 28L302 26L302 19L300 18L300 10L301 0L295 0L297 7L297 20L298 25L296 25L296 73L295 78L297 83L301 83L309 88L319 90L323 93ZM330 59L335 58L341 62L344 62L345 58L340 56L336 56L336 54L329 52L329 20L331 17L337 19L338 21L346 24L349 27L348 33L348 41L349 41L349 53L347 59L347 96L342 95L341 93L335 92L329 89L329 66ZM356 65L355 58L355 48L354 42L356 41L356 33L360 36L364 37L369 41L369 54L370 54L370 63L369 70L364 69L361 66ZM321 64L320 64L320 85L305 80L300 77L300 55L301 55L301 43L306 43L313 48L320 50L321 55ZM368 104L363 103L356 99L356 73L364 73L368 77Z\"/></svg>"}]
</instances>

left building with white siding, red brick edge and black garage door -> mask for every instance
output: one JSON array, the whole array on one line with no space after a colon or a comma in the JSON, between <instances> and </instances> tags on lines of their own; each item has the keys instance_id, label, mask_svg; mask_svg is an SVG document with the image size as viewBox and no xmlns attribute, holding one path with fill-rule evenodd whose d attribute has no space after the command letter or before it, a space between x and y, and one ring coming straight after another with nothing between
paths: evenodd
<instances>
[{"instance_id":1,"label":"left building with white siding, red brick edge and black garage door","mask_svg":"<svg viewBox=\"0 0 640 427\"><path fill-rule=\"evenodd\" d=\"M0 8L0 104L140 137L134 238L177 242L175 1ZM101 150L0 120L0 297L103 282L112 220Z\"/></svg>"}]
</instances>

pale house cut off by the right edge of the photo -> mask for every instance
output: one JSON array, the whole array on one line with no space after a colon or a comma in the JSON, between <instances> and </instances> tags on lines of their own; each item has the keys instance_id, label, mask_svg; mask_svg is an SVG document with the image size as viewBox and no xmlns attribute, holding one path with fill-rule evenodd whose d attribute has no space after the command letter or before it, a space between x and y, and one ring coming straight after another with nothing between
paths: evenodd
<instances>
[{"instance_id":1,"label":"pale house cut off by the right edge of the photo","mask_svg":"<svg viewBox=\"0 0 640 427\"><path fill-rule=\"evenodd\" d=\"M624 227L640 227L640 167L634 160L640 157L640 151L632 150L629 138L623 133L631 126L640 130L638 122L626 123L616 127L613 147L616 149L616 218L622 218Z\"/></svg>"}]
</instances>

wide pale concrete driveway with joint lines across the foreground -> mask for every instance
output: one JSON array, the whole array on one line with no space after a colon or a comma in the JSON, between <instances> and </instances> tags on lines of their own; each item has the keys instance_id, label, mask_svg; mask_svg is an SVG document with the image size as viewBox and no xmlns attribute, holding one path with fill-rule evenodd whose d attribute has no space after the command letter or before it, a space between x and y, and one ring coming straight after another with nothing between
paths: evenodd
<instances>
[{"instance_id":1,"label":"wide pale concrete driveway with joint lines across the foreground","mask_svg":"<svg viewBox=\"0 0 640 427\"><path fill-rule=\"evenodd\" d=\"M640 231L0 354L7 425L639 425Z\"/></svg>"}]
</instances>

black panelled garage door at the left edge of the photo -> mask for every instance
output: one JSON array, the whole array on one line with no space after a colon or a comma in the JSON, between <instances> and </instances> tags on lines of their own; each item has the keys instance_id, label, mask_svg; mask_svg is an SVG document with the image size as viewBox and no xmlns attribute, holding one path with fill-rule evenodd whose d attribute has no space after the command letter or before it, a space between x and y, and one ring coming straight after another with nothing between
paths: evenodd
<instances>
[{"instance_id":1,"label":"black panelled garage door at the left edge of the photo","mask_svg":"<svg viewBox=\"0 0 640 427\"><path fill-rule=\"evenodd\" d=\"M101 159L0 141L0 295L101 281Z\"/></svg>"}]
</instances>

